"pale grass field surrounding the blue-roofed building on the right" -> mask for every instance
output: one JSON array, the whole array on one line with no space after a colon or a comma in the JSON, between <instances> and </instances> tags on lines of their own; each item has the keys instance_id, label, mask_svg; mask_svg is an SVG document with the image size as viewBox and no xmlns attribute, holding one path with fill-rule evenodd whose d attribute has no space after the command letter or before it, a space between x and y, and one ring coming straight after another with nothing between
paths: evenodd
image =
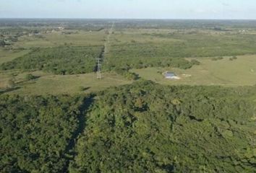
<instances>
[{"instance_id":1,"label":"pale grass field surrounding the blue-roofed building on the right","mask_svg":"<svg viewBox=\"0 0 256 173\"><path fill-rule=\"evenodd\" d=\"M189 84L189 85L224 85L249 86L256 84L256 56L238 56L237 60L230 61L229 57L223 60L212 61L210 58L197 58L199 66L182 70L178 68L143 68L133 69L143 79L155 81L159 84ZM158 71L174 71L181 77L179 80L164 79Z\"/></svg>"}]
</instances>

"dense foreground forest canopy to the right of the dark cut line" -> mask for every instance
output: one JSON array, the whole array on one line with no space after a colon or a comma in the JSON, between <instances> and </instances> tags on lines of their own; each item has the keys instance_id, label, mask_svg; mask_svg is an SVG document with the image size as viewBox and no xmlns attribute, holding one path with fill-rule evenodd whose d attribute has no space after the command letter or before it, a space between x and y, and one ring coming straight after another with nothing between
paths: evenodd
<instances>
[{"instance_id":1,"label":"dense foreground forest canopy to the right of the dark cut line","mask_svg":"<svg viewBox=\"0 0 256 173\"><path fill-rule=\"evenodd\" d=\"M103 92L70 172L253 172L252 93L150 82Z\"/></svg>"}]
</instances>

